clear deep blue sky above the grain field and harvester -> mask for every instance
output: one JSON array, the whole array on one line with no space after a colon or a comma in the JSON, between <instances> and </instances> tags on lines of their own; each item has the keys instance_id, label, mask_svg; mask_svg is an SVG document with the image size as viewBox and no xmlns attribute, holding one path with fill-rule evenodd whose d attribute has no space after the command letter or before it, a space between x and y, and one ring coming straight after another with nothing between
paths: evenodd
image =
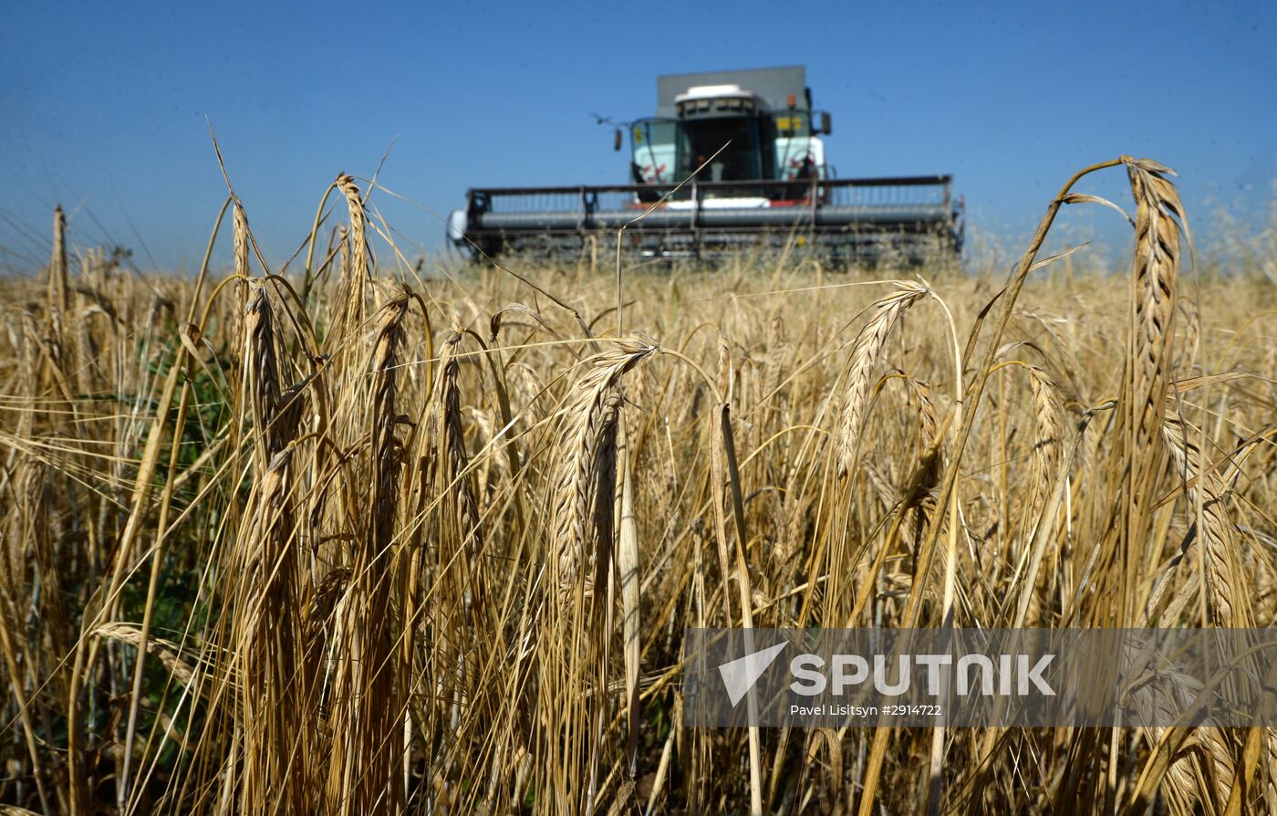
<instances>
[{"instance_id":1,"label":"clear deep blue sky above the grain field and harvester","mask_svg":"<svg viewBox=\"0 0 1277 816\"><path fill-rule=\"evenodd\" d=\"M1207 225L1216 204L1266 218L1277 179L1272 1L8 0L0 19L0 269L42 261L59 202L80 244L195 267L225 197L206 116L281 261L332 178L370 176L396 137L381 180L441 216L471 185L623 183L589 112L650 115L658 74L728 68L807 65L840 175L951 172L1013 245L1119 153L1176 167ZM405 249L442 245L435 217L374 202Z\"/></svg>"}]
</instances>

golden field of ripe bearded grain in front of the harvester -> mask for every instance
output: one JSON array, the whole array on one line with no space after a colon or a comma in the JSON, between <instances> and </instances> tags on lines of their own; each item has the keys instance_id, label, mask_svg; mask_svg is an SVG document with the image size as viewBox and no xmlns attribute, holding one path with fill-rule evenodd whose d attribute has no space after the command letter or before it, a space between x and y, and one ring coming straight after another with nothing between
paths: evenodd
<instances>
[{"instance_id":1,"label":"golden field of ripe bearded grain in front of the harvester","mask_svg":"<svg viewBox=\"0 0 1277 816\"><path fill-rule=\"evenodd\" d=\"M432 272L344 175L179 278L59 211L0 280L0 812L1277 812L1267 729L682 725L684 627L1273 623L1274 286L1092 171L1111 275L1039 253L1074 180L973 276Z\"/></svg>"}]
</instances>

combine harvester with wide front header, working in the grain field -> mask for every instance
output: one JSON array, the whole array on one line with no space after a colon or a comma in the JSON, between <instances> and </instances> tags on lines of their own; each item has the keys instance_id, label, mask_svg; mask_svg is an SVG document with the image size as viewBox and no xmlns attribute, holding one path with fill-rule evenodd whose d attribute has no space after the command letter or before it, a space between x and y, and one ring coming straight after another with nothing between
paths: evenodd
<instances>
[{"instance_id":1,"label":"combine harvester with wide front header, working in the grain field","mask_svg":"<svg viewBox=\"0 0 1277 816\"><path fill-rule=\"evenodd\" d=\"M645 258L760 246L835 263L960 254L951 176L836 178L821 138L830 116L812 110L805 68L660 77L656 94L656 116L626 125L630 184L471 189L448 236L475 258L573 257L595 240L612 248L626 225L622 246ZM617 129L617 151L622 142Z\"/></svg>"}]
</instances>

